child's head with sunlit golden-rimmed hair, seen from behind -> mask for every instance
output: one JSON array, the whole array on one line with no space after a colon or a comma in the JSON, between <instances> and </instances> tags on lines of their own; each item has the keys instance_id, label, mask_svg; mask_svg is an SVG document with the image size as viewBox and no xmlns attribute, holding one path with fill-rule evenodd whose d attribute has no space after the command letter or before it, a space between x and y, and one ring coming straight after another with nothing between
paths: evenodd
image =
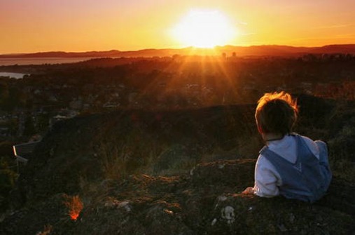
<instances>
[{"instance_id":1,"label":"child's head with sunlit golden-rimmed hair, seen from behind","mask_svg":"<svg viewBox=\"0 0 355 235\"><path fill-rule=\"evenodd\" d=\"M265 93L256 107L256 124L260 133L286 135L291 132L297 114L296 101L290 94Z\"/></svg>"}]
</instances>

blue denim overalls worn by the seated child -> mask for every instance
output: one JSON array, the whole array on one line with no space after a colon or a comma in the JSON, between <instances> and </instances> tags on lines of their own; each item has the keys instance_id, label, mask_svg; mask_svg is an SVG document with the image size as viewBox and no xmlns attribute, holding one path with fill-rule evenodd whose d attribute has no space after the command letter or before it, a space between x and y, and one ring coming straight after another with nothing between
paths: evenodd
<instances>
[{"instance_id":1,"label":"blue denim overalls worn by the seated child","mask_svg":"<svg viewBox=\"0 0 355 235\"><path fill-rule=\"evenodd\" d=\"M272 163L281 177L280 195L287 199L312 203L326 194L332 178L328 163L328 149L325 142L316 140L315 143L319 147L319 159L317 159L300 135L292 135L297 145L295 163L272 152L267 146L260 150L260 154Z\"/></svg>"}]
</instances>

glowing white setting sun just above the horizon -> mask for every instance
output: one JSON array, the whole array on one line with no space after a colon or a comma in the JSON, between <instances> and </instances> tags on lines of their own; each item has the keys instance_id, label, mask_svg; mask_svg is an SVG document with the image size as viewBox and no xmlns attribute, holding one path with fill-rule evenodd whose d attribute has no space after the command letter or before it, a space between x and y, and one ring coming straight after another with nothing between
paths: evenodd
<instances>
[{"instance_id":1,"label":"glowing white setting sun just above the horizon","mask_svg":"<svg viewBox=\"0 0 355 235\"><path fill-rule=\"evenodd\" d=\"M172 28L174 39L183 46L212 48L224 46L237 34L230 20L221 11L194 10Z\"/></svg>"}]
</instances>

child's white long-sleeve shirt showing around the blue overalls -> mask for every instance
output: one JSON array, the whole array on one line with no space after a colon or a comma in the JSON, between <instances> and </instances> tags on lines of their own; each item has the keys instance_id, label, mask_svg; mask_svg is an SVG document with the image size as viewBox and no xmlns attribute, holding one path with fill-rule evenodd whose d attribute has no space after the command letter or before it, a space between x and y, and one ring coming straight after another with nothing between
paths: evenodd
<instances>
[{"instance_id":1,"label":"child's white long-sleeve shirt showing around the blue overalls","mask_svg":"<svg viewBox=\"0 0 355 235\"><path fill-rule=\"evenodd\" d=\"M319 149L316 143L309 139L309 137L302 136L302 138L314 156L319 159ZM295 163L297 159L297 146L295 136L293 135L285 135L281 140L267 142L267 147L291 163ZM277 196L279 195L279 186L281 185L282 180L277 170L270 161L260 154L258 161L256 161L254 194L263 197Z\"/></svg>"}]
</instances>

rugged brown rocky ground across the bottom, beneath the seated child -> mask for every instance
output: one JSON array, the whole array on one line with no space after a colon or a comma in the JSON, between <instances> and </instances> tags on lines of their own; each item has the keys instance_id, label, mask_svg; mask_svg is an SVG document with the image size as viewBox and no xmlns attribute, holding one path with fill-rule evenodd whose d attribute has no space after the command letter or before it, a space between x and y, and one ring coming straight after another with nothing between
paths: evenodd
<instances>
[{"instance_id":1,"label":"rugged brown rocky ground across the bottom, beneath the seated child","mask_svg":"<svg viewBox=\"0 0 355 235\"><path fill-rule=\"evenodd\" d=\"M351 195L355 187L335 179L329 194L314 204L241 194L253 183L254 164L255 160L248 159L216 161L198 165L190 175L132 175L120 182L102 182L92 189L92 194L80 195L83 210L75 221L69 217L70 196L55 194L6 218L0 231L4 234L46 231L50 234L349 234L354 231L355 204ZM344 194L347 197L342 197Z\"/></svg>"}]
</instances>

